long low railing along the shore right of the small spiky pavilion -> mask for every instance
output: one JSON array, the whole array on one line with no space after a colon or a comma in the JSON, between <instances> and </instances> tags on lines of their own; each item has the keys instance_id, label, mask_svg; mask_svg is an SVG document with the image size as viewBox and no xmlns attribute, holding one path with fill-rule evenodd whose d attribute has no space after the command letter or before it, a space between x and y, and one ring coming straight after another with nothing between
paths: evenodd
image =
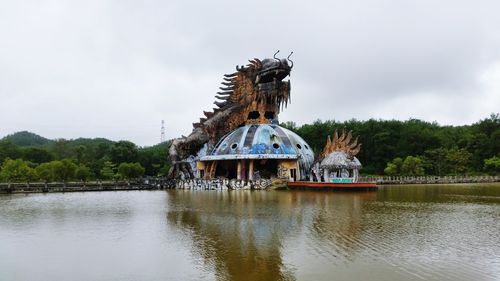
<instances>
[{"instance_id":1,"label":"long low railing along the shore right of the small spiky pavilion","mask_svg":"<svg viewBox=\"0 0 500 281\"><path fill-rule=\"evenodd\" d=\"M377 184L491 183L500 182L500 176L362 176L359 181Z\"/></svg>"}]
</instances>

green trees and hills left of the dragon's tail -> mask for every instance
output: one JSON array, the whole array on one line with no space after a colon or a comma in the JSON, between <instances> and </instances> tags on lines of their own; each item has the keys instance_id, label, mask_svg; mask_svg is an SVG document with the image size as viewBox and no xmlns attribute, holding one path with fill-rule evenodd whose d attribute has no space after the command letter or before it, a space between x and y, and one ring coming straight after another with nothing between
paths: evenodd
<instances>
[{"instance_id":1,"label":"green trees and hills left of the dragon's tail","mask_svg":"<svg viewBox=\"0 0 500 281\"><path fill-rule=\"evenodd\" d=\"M0 181L132 179L168 172L168 142L140 148L107 139L48 140L18 132L0 140Z\"/></svg>"}]
</instances>

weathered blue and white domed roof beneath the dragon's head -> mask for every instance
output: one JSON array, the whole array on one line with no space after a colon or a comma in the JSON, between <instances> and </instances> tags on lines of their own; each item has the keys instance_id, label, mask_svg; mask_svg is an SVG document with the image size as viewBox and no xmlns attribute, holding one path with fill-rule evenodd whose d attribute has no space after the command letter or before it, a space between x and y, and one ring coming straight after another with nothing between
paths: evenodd
<instances>
[{"instance_id":1,"label":"weathered blue and white domed roof beneath the dragon's head","mask_svg":"<svg viewBox=\"0 0 500 281\"><path fill-rule=\"evenodd\" d=\"M300 159L310 165L314 152L299 135L278 125L245 125L222 137L212 152L201 158L230 159Z\"/></svg>"}]
</instances>

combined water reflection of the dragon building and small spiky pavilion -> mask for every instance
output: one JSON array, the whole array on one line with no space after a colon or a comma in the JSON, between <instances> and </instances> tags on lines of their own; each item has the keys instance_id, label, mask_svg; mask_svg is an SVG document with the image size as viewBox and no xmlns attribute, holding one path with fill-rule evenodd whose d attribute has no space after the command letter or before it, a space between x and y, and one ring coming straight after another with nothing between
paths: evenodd
<instances>
[{"instance_id":1,"label":"combined water reflection of the dragon building and small spiky pavilion","mask_svg":"<svg viewBox=\"0 0 500 281\"><path fill-rule=\"evenodd\" d=\"M191 236L193 251L220 279L295 280L283 262L284 243L306 223L315 240L335 242L348 257L359 246L353 237L360 234L362 201L376 193L172 191L168 198L169 224Z\"/></svg>"}]
</instances>

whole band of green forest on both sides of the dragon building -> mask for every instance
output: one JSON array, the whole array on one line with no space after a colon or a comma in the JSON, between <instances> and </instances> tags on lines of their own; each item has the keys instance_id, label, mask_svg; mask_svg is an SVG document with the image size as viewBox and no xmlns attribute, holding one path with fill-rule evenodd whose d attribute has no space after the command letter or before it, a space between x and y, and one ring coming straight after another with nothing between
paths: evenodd
<instances>
[{"instance_id":1,"label":"whole band of green forest on both sides of the dragon building","mask_svg":"<svg viewBox=\"0 0 500 281\"><path fill-rule=\"evenodd\" d=\"M334 130L352 130L363 144L357 156L363 174L477 175L500 173L500 116L465 126L407 121L316 121L297 126L316 154ZM49 140L30 132L0 139L0 181L68 181L130 179L168 173L170 142L138 147L130 141L103 138Z\"/></svg>"}]
</instances>

